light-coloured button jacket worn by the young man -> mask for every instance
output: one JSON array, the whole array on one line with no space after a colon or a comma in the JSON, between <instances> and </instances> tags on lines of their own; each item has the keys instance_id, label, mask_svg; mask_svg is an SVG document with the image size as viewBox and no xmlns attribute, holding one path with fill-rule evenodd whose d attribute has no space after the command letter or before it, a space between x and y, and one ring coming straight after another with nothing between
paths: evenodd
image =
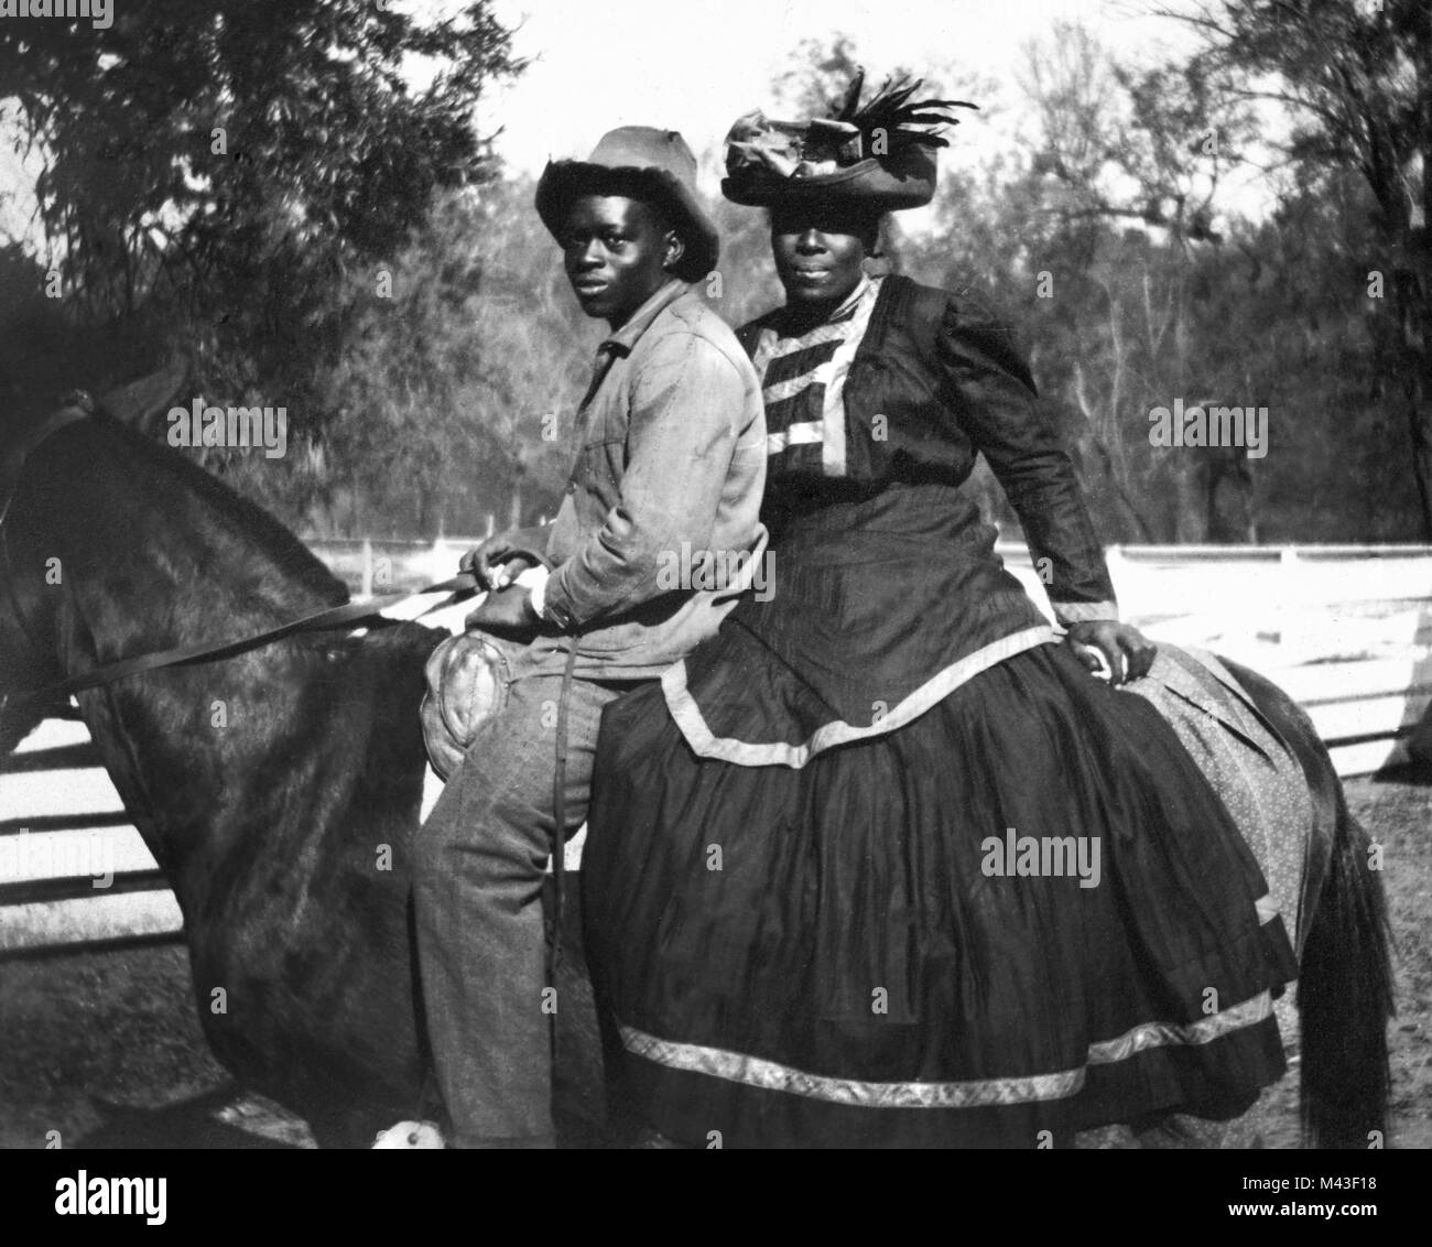
<instances>
[{"instance_id":1,"label":"light-coloured button jacket worn by the young man","mask_svg":"<svg viewBox=\"0 0 1432 1247\"><path fill-rule=\"evenodd\" d=\"M765 548L760 385L687 282L669 281L601 342L574 440L543 617L579 636L583 669L657 676L735 606L740 586L703 587L703 567L753 570Z\"/></svg>"}]
</instances>

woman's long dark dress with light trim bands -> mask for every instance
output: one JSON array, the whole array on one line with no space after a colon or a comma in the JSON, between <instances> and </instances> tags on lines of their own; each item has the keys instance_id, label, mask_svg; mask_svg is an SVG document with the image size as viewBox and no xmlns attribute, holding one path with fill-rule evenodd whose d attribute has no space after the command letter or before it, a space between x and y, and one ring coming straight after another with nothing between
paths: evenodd
<instances>
[{"instance_id":1,"label":"woman's long dark dress with light trim bands","mask_svg":"<svg viewBox=\"0 0 1432 1247\"><path fill-rule=\"evenodd\" d=\"M1242 1112L1285 1069L1293 954L1171 729L1055 641L961 491L982 451L1061 621L1114 617L1008 335L895 276L786 325L742 331L769 591L603 717L583 908L613 1087L726 1147Z\"/></svg>"}]
</instances>

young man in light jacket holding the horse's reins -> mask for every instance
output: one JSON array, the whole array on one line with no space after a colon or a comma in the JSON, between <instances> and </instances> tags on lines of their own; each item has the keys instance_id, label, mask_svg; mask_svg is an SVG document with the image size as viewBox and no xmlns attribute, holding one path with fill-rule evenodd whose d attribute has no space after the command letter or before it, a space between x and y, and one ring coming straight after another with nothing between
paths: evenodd
<instances>
[{"instance_id":1,"label":"young man in light jacket holding the horse's reins","mask_svg":"<svg viewBox=\"0 0 1432 1247\"><path fill-rule=\"evenodd\" d=\"M467 560L494 590L468 624L536 637L415 849L420 968L450 1147L554 1144L548 1027L560 1002L544 968L547 858L586 819L603 707L684 657L735 604L729 591L680 587L706 581L677 564L710 551L749 566L765 535L760 389L690 285L719 248L695 172L680 135L630 126L586 162L550 163L537 188L577 301L611 334L577 412L576 467L556 521L493 537ZM553 568L533 590L513 584L534 563L524 551Z\"/></svg>"}]
</instances>

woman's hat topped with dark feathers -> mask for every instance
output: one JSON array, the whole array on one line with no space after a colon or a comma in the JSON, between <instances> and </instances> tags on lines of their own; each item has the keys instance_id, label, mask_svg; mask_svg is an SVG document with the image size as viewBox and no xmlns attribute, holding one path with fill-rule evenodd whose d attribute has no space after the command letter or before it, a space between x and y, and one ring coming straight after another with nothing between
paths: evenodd
<instances>
[{"instance_id":1,"label":"woman's hat topped with dark feathers","mask_svg":"<svg viewBox=\"0 0 1432 1247\"><path fill-rule=\"evenodd\" d=\"M722 195L748 208L779 203L853 202L874 212L929 203L935 153L948 147L939 126L959 122L949 109L967 100L912 100L924 79L885 80L863 107L865 70L858 70L835 116L775 122L759 109L726 135Z\"/></svg>"}]
</instances>

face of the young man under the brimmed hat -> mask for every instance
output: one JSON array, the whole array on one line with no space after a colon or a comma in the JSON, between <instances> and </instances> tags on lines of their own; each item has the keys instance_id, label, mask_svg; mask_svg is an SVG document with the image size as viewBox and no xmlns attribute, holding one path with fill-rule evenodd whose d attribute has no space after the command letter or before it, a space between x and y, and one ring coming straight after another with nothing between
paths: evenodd
<instances>
[{"instance_id":1,"label":"face of the young man under the brimmed hat","mask_svg":"<svg viewBox=\"0 0 1432 1247\"><path fill-rule=\"evenodd\" d=\"M567 279L589 316L620 328L666 282L680 242L644 203L623 195L573 200L561 232Z\"/></svg>"}]
</instances>

